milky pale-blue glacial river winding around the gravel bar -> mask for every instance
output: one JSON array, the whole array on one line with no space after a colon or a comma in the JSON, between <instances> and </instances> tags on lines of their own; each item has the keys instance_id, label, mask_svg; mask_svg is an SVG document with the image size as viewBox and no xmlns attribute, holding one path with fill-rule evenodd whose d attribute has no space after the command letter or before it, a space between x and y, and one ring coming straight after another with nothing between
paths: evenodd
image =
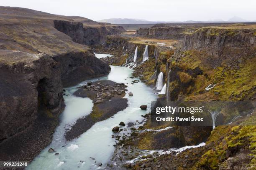
<instances>
[{"instance_id":1,"label":"milky pale-blue glacial river winding around the gravel bar","mask_svg":"<svg viewBox=\"0 0 256 170\"><path fill-rule=\"evenodd\" d=\"M96 54L96 57L97 54ZM102 54L100 55L102 57ZM103 56L104 57L104 56ZM114 153L115 138L112 128L118 126L123 121L127 125L128 122L141 122L145 115L150 111L152 100L156 100L157 96L154 90L146 86L142 82L131 84L133 70L127 67L111 66L111 72L108 76L100 77L90 81L112 80L115 82L123 82L128 87L125 98L128 98L128 107L116 113L113 117L95 123L89 130L72 141L66 141L64 134L73 125L79 117L89 115L92 111L93 103L89 98L76 97L73 93L79 86L85 85L89 80L80 83L74 87L66 89L64 100L66 107L60 116L60 125L56 128L54 138L51 144L31 162L26 168L27 170L89 170L104 169L109 163ZM133 96L129 97L128 92L133 92ZM140 105L148 105L148 110L141 110ZM56 152L49 153L49 148L53 148ZM56 153L59 153L56 155ZM90 158L91 157L91 158ZM93 159L92 159L93 158ZM102 166L98 166L102 163Z\"/></svg>"}]
</instances>

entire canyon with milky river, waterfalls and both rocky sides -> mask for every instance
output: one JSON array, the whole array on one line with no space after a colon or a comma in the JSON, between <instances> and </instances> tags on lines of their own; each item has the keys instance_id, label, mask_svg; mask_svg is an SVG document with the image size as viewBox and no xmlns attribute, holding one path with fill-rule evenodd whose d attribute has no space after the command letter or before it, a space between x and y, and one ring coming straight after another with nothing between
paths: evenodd
<instances>
[{"instance_id":1,"label":"entire canyon with milky river, waterfalls and both rocky sides","mask_svg":"<svg viewBox=\"0 0 256 170\"><path fill-rule=\"evenodd\" d=\"M227 105L231 111L202 115L211 126L175 126L155 124L139 108L153 100L255 101L255 23L156 24L131 34L26 8L0 7L0 16L0 160L77 167L67 155L81 147L73 156L84 154L79 166L87 169L255 168L254 110L239 117ZM85 117L65 119L67 108L82 112L70 100L86 103ZM84 152L92 148L97 160Z\"/></svg>"}]
</instances>

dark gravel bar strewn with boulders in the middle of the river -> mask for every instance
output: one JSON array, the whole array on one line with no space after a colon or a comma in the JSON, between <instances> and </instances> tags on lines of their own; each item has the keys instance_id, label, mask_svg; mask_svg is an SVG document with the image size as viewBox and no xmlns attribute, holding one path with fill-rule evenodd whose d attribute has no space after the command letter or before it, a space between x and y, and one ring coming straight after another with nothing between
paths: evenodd
<instances>
[{"instance_id":1,"label":"dark gravel bar strewn with boulders in the middle of the river","mask_svg":"<svg viewBox=\"0 0 256 170\"><path fill-rule=\"evenodd\" d=\"M121 95L118 95L119 88ZM110 80L100 80L92 82L90 88L81 87L74 92L78 97L89 97L94 101L92 113L86 117L82 117L72 126L66 133L65 138L72 140L77 138L82 133L86 132L96 122L108 119L115 115L120 110L124 110L128 106L128 100L123 98L125 95L125 85L123 83L116 83ZM100 100L100 102L97 102Z\"/></svg>"}]
</instances>

